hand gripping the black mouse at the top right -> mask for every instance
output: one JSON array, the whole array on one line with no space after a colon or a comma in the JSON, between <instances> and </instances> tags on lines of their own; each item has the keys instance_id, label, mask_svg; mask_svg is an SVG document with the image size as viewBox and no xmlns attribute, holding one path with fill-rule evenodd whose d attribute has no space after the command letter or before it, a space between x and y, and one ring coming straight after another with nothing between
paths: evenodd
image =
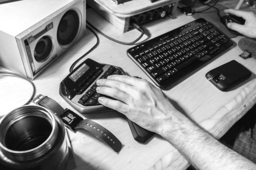
<instances>
[{"instance_id":1,"label":"hand gripping the black mouse at the top right","mask_svg":"<svg viewBox=\"0 0 256 170\"><path fill-rule=\"evenodd\" d=\"M253 12L246 12L234 9L225 9L225 13L233 14L238 17L242 17L245 20L245 24L228 23L227 27L233 29L247 37L256 38L256 15Z\"/></svg>"}]
</instances>

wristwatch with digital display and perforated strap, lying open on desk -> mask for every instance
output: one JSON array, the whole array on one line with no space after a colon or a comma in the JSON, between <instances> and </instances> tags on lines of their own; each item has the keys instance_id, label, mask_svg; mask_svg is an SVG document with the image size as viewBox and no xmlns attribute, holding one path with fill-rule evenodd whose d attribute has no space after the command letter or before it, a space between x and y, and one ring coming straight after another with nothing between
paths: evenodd
<instances>
[{"instance_id":1,"label":"wristwatch with digital display and perforated strap, lying open on desk","mask_svg":"<svg viewBox=\"0 0 256 170\"><path fill-rule=\"evenodd\" d=\"M117 137L95 121L83 119L72 110L64 109L58 102L47 96L38 95L33 98L32 102L54 112L71 131L75 132L78 129L86 130L110 146L114 151L119 152L121 150L122 144Z\"/></svg>"}]
</instances>

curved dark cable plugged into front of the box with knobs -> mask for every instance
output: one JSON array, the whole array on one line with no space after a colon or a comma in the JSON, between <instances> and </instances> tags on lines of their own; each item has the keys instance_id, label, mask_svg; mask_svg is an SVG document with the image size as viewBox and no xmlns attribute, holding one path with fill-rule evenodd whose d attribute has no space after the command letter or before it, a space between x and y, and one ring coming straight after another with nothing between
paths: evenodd
<instances>
[{"instance_id":1,"label":"curved dark cable plugged into front of the box with knobs","mask_svg":"<svg viewBox=\"0 0 256 170\"><path fill-rule=\"evenodd\" d=\"M98 30L93 24L89 23L88 21L86 21L87 24L89 24L92 28L94 28L97 32L99 32L101 35L103 35L104 37L108 38L109 40L112 40L116 43L119 44L123 44L123 45L134 45L137 41L139 41L139 39L144 35L144 29L138 25L138 24L132 24L132 26L137 29L138 31L141 32L140 36L138 38L136 38L134 41L130 42L130 43L126 43L126 42L122 42L122 41L118 41L114 38L111 38L109 36L107 36L106 34L104 34L103 32L101 32L100 30Z\"/></svg>"}]
</instances>

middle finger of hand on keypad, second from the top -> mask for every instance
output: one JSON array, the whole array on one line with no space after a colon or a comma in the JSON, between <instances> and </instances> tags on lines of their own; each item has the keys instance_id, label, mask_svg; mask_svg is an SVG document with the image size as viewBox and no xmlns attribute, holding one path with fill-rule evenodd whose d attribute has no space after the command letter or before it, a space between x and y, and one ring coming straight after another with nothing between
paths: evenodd
<instances>
[{"instance_id":1,"label":"middle finger of hand on keypad, second from the top","mask_svg":"<svg viewBox=\"0 0 256 170\"><path fill-rule=\"evenodd\" d=\"M118 90L121 90L123 92L128 92L132 93L132 87L126 83L123 83L118 80L113 80L113 79L98 79L96 81L98 86L106 86L106 87L111 87L111 88L116 88Z\"/></svg>"}]
</instances>

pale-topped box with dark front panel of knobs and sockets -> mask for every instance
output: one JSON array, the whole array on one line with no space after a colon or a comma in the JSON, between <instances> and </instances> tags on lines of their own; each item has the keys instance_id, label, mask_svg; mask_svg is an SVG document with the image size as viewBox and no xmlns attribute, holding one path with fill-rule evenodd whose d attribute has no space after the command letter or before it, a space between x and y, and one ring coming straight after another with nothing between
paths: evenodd
<instances>
[{"instance_id":1,"label":"pale-topped box with dark front panel of knobs and sockets","mask_svg":"<svg viewBox=\"0 0 256 170\"><path fill-rule=\"evenodd\" d=\"M175 18L175 11L180 0L130 0L116 4L110 0L87 0L96 12L113 24L119 31L133 29L132 24L143 25L166 16Z\"/></svg>"}]
</instances>

